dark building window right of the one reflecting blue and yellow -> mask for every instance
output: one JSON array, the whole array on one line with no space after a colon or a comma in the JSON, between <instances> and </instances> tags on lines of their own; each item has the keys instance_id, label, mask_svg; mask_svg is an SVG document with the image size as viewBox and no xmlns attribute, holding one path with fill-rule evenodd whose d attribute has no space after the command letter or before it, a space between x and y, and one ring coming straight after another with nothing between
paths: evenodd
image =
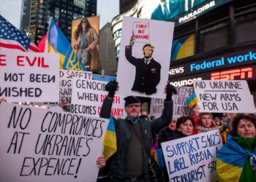
<instances>
[{"instance_id":1,"label":"dark building window right of the one reflecting blue and yellow","mask_svg":"<svg viewBox=\"0 0 256 182\"><path fill-rule=\"evenodd\" d=\"M216 50L227 46L229 41L230 26L228 23L219 23L200 30L199 52Z\"/></svg>"}]
</instances>

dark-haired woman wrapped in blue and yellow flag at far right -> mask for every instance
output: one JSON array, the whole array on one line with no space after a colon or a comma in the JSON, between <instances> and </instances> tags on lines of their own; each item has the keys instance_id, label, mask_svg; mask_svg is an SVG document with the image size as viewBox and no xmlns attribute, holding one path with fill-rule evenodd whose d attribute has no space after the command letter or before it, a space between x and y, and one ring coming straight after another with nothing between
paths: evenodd
<instances>
[{"instance_id":1,"label":"dark-haired woman wrapped in blue and yellow flag at far right","mask_svg":"<svg viewBox=\"0 0 256 182\"><path fill-rule=\"evenodd\" d=\"M256 118L240 114L217 158L219 181L256 181Z\"/></svg>"}]
</instances>

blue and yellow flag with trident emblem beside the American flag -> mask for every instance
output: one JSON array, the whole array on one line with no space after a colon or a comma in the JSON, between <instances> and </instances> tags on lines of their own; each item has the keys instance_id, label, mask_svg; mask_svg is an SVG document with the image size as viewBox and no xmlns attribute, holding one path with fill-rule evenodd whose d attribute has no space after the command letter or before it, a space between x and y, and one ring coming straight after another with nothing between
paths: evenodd
<instances>
[{"instance_id":1,"label":"blue and yellow flag with trident emblem beside the American flag","mask_svg":"<svg viewBox=\"0 0 256 182\"><path fill-rule=\"evenodd\" d=\"M73 71L87 71L75 55L71 44L52 17L49 20L47 39L45 41L45 52L58 53L60 58L60 69Z\"/></svg>"}]
</instances>

